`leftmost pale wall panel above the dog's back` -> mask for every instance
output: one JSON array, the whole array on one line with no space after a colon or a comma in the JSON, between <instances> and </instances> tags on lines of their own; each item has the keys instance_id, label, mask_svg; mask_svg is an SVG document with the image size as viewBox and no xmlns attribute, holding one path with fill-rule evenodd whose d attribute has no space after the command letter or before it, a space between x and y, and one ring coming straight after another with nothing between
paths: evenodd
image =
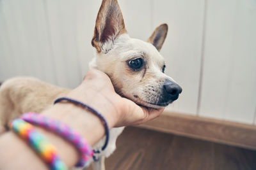
<instances>
[{"instance_id":1,"label":"leftmost pale wall panel above the dog's back","mask_svg":"<svg viewBox=\"0 0 256 170\"><path fill-rule=\"evenodd\" d=\"M6 70L12 69L4 79L36 76L55 83L43 1L1 1L1 18L3 51L9 52L1 56L1 59L8 58L2 64L7 64ZM12 66L8 64L10 61Z\"/></svg>"}]
</instances>

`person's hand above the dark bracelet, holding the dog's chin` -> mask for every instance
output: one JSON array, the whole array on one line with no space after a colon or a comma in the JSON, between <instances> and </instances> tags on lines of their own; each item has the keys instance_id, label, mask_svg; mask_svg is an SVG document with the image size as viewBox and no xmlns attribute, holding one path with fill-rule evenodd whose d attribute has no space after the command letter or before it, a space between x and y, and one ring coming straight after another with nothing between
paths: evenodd
<instances>
[{"instance_id":1,"label":"person's hand above the dark bracelet, holding the dog's chin","mask_svg":"<svg viewBox=\"0 0 256 170\"><path fill-rule=\"evenodd\" d=\"M88 71L83 83L68 96L92 106L115 127L142 124L163 113L163 108L145 108L119 96L108 75L97 69Z\"/></svg>"}]
</instances>

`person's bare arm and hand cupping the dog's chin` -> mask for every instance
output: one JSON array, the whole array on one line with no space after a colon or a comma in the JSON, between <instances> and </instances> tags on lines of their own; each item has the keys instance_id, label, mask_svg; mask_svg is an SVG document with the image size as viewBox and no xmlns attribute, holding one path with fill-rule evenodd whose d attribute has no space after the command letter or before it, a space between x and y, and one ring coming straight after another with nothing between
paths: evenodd
<instances>
[{"instance_id":1,"label":"person's bare arm and hand cupping the dog's chin","mask_svg":"<svg viewBox=\"0 0 256 170\"><path fill-rule=\"evenodd\" d=\"M109 129L116 126L135 125L159 116L163 109L152 110L136 105L116 94L109 77L97 70L89 71L84 81L67 97L76 99L95 108L106 118ZM69 125L77 131L89 145L93 146L105 134L101 120L79 106L71 103L58 103L41 113ZM36 127L49 139L61 160L68 167L79 160L79 152L70 143L52 132ZM0 169L47 169L44 162L14 132L0 136Z\"/></svg>"}]
</instances>

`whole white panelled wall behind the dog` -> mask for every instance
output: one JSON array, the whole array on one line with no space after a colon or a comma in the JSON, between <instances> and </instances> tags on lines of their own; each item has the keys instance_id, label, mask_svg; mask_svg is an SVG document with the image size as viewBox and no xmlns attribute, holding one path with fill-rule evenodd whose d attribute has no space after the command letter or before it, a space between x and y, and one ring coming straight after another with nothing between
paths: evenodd
<instances>
[{"instance_id":1,"label":"whole white panelled wall behind the dog","mask_svg":"<svg viewBox=\"0 0 256 170\"><path fill-rule=\"evenodd\" d=\"M100 0L0 0L0 81L76 87L92 59ZM255 0L120 0L130 36L169 32L161 53L182 86L168 110L256 124Z\"/></svg>"}]
</instances>

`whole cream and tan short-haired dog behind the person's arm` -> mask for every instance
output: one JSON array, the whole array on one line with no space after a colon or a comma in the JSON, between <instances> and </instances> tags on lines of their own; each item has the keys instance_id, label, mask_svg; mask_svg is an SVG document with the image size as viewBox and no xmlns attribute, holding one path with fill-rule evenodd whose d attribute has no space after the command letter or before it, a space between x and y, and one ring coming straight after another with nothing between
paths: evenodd
<instances>
[{"instance_id":1,"label":"whole cream and tan short-haired dog behind the person's arm","mask_svg":"<svg viewBox=\"0 0 256 170\"><path fill-rule=\"evenodd\" d=\"M90 68L108 74L118 94L141 106L163 108L182 92L181 87L164 74L165 62L159 53L168 32L168 25L159 25L146 41L130 38L117 0L103 0L97 15L92 46L96 49ZM10 120L22 113L40 113L52 106L58 97L66 96L70 89L56 87L36 78L16 77L0 88L0 131ZM95 169L105 169L104 157L114 152L116 138L124 127L110 131L109 145L94 162ZM102 139L95 149L103 145Z\"/></svg>"}]
</instances>

